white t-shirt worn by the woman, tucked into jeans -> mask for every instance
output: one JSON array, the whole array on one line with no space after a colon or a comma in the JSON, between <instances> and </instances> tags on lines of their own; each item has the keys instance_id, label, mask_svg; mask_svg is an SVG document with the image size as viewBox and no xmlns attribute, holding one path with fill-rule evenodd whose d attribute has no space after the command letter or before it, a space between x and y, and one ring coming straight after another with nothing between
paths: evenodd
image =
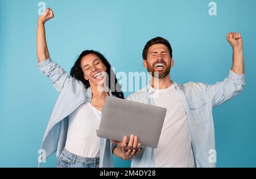
<instances>
[{"instance_id":1,"label":"white t-shirt worn by the woman, tucked into jeans","mask_svg":"<svg viewBox=\"0 0 256 179\"><path fill-rule=\"evenodd\" d=\"M91 103L84 103L69 115L65 149L82 157L100 156L100 138L96 130L100 126L101 111Z\"/></svg>"}]
</instances>

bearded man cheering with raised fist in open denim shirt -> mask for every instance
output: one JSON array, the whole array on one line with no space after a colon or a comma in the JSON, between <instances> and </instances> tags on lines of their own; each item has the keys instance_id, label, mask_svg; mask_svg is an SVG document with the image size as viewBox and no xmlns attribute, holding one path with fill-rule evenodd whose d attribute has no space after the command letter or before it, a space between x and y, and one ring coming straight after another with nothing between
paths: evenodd
<instances>
[{"instance_id":1,"label":"bearded man cheering with raised fist in open denim shirt","mask_svg":"<svg viewBox=\"0 0 256 179\"><path fill-rule=\"evenodd\" d=\"M131 167L216 167L214 159L209 160L210 152L215 151L212 108L245 86L241 35L228 33L226 39L233 48L233 66L228 78L213 85L172 82L170 43L162 37L147 42L143 66L151 73L151 82L127 99L167 108L167 114L158 147L144 147L133 157Z\"/></svg>"}]
</instances>

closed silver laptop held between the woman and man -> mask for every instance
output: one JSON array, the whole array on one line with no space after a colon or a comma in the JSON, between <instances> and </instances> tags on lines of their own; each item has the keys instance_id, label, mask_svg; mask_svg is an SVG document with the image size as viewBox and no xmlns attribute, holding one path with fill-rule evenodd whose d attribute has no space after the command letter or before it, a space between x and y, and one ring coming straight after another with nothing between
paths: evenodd
<instances>
[{"instance_id":1,"label":"closed silver laptop held between the woman and man","mask_svg":"<svg viewBox=\"0 0 256 179\"><path fill-rule=\"evenodd\" d=\"M97 136L122 141L138 136L142 146L156 148L166 116L166 108L107 97Z\"/></svg>"}]
</instances>

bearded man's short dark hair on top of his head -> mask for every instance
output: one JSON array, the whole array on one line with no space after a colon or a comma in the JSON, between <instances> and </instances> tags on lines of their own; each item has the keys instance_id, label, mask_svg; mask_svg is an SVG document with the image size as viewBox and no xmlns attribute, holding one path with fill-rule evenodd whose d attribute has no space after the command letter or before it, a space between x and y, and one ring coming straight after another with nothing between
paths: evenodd
<instances>
[{"instance_id":1,"label":"bearded man's short dark hair on top of his head","mask_svg":"<svg viewBox=\"0 0 256 179\"><path fill-rule=\"evenodd\" d=\"M142 57L143 59L147 59L147 53L148 49L150 46L155 45L155 44L164 44L167 46L170 52L170 56L172 57L172 48L171 44L168 40L164 39L163 37L155 37L154 39L151 39L150 41L147 42L147 44L144 46Z\"/></svg>"}]
</instances>

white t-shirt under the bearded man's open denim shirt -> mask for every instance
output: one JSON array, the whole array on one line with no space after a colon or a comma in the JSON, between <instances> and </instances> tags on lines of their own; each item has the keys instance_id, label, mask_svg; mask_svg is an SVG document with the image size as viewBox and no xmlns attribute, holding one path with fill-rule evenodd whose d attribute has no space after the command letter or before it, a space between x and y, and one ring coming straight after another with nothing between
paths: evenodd
<instances>
[{"instance_id":1,"label":"white t-shirt under the bearded man's open denim shirt","mask_svg":"<svg viewBox=\"0 0 256 179\"><path fill-rule=\"evenodd\" d=\"M154 103L167 109L154 167L195 167L185 110L174 84L164 90L154 89Z\"/></svg>"}]
</instances>

